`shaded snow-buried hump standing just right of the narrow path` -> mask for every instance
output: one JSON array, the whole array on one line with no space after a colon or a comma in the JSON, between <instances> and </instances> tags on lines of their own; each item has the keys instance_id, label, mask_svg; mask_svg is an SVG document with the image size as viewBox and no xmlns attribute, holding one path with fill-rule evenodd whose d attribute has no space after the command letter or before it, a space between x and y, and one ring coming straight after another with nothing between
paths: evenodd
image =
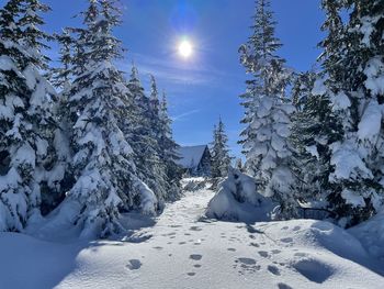
<instances>
[{"instance_id":1,"label":"shaded snow-buried hump standing just right of the narrow path","mask_svg":"<svg viewBox=\"0 0 384 289\"><path fill-rule=\"evenodd\" d=\"M206 216L228 221L267 221L273 203L257 192L255 179L237 169L229 169L227 179L210 201Z\"/></svg>"}]
</instances>

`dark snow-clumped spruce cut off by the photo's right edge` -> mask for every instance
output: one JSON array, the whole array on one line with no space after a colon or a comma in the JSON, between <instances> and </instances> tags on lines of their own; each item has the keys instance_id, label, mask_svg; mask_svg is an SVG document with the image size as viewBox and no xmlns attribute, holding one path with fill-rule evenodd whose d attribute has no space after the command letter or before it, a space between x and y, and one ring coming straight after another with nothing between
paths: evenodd
<instances>
[{"instance_id":1,"label":"dark snow-clumped spruce cut off by the photo's right edge","mask_svg":"<svg viewBox=\"0 0 384 289\"><path fill-rule=\"evenodd\" d=\"M342 225L369 219L383 199L382 1L323 1L327 12L323 42L326 96L342 125L331 144L329 208ZM343 25L340 13L351 11Z\"/></svg>"}]
</instances>

